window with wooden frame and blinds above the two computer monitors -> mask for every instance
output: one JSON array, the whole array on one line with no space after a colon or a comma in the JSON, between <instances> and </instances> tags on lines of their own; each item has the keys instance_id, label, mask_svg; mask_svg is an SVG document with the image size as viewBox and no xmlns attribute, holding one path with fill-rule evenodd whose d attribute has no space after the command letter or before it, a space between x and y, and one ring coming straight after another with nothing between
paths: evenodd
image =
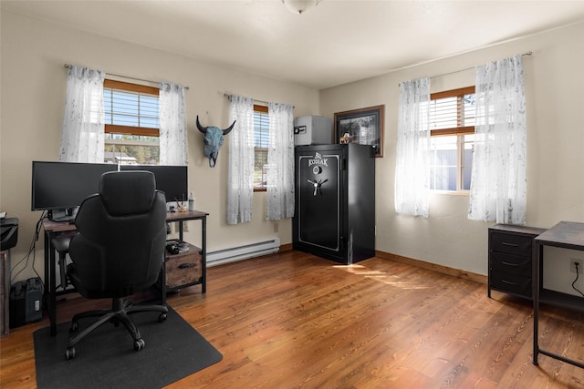
<instances>
[{"instance_id":1,"label":"window with wooden frame and blinds above the two computer monitors","mask_svg":"<svg viewBox=\"0 0 584 389\"><path fill-rule=\"evenodd\" d=\"M159 88L106 79L105 162L157 165L159 148Z\"/></svg>"}]
</instances>

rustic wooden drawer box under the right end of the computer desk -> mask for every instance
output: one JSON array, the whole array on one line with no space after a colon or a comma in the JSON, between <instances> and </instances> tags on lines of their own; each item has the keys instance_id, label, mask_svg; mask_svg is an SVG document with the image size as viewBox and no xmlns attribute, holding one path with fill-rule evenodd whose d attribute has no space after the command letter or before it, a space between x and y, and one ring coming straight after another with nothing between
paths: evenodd
<instances>
[{"instance_id":1,"label":"rustic wooden drawer box under the right end of the computer desk","mask_svg":"<svg viewBox=\"0 0 584 389\"><path fill-rule=\"evenodd\" d=\"M170 254L166 252L166 289L178 289L202 282L203 257L201 249L186 243L189 251Z\"/></svg>"}]
</instances>

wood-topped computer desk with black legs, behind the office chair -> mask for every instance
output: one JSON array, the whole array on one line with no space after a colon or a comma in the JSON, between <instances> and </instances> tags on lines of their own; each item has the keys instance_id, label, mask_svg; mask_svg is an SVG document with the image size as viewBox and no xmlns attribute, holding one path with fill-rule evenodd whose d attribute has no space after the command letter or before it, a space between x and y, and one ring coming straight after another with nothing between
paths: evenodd
<instances>
[{"instance_id":1,"label":"wood-topped computer desk with black legs, behind the office chair","mask_svg":"<svg viewBox=\"0 0 584 389\"><path fill-rule=\"evenodd\" d=\"M179 239L183 241L183 222L187 220L201 220L202 223L202 241L201 241L201 256L203 261L203 276L201 280L202 292L207 292L207 215L201 210L191 210L188 212L169 212L166 214L167 222L179 223ZM48 219L43 219L43 229L45 230L45 307L47 308L48 318L50 322L51 336L57 333L57 294L67 293L68 291L57 292L56 274L55 274L55 250L51 244L51 240L63 233L73 233L77 228L75 224L68 222L56 222ZM162 263L162 304L166 303L166 272L164 263Z\"/></svg>"}]
</instances>

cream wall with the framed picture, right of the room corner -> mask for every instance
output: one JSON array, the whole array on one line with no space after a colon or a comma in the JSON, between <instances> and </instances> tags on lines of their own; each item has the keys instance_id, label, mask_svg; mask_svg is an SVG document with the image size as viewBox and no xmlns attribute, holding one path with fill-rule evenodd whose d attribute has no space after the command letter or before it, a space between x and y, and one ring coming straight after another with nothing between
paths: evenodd
<instances>
[{"instance_id":1,"label":"cream wall with the framed picture, right of the room corner","mask_svg":"<svg viewBox=\"0 0 584 389\"><path fill-rule=\"evenodd\" d=\"M549 228L560 220L584 222L582 36L584 24L569 26L321 91L320 114L329 118L335 112L385 105L384 156L376 163L378 251L487 273L487 229L492 223L466 219L467 196L434 194L428 219L394 212L398 85L413 78L433 77L432 92L473 86L474 67L528 51L533 55L523 57L528 125L527 225ZM584 252L547 254L547 287L573 292L569 284L575 274L569 273L570 257L584 259ZM580 285L584 289L584 282Z\"/></svg>"}]
</instances>

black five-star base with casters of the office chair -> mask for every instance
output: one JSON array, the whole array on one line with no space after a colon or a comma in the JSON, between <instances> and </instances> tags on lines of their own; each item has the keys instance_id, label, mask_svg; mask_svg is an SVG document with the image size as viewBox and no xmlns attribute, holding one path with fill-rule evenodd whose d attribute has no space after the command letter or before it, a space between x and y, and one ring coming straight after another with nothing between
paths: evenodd
<instances>
[{"instance_id":1,"label":"black five-star base with casters of the office chair","mask_svg":"<svg viewBox=\"0 0 584 389\"><path fill-rule=\"evenodd\" d=\"M65 359L69 360L75 358L77 355L75 345L79 343L79 341L81 341L81 339L83 339L85 336L89 335L89 333L95 331L101 324L106 322L113 322L116 327L121 322L134 340L134 350L140 351L144 348L146 343L141 338L138 327L136 327L136 324L131 321L129 316L132 313L139 312L161 312L158 320L159 322L164 322L167 319L168 308L164 305L134 305L129 300L125 300L119 297L112 299L110 310L88 311L76 314L73 316L71 324L69 325L69 332L71 333L78 331L79 319L98 316L99 320L97 322L93 322L91 325L89 325L88 328L85 328L80 333L76 333L69 338L67 343L67 350L65 352Z\"/></svg>"}]
</instances>

